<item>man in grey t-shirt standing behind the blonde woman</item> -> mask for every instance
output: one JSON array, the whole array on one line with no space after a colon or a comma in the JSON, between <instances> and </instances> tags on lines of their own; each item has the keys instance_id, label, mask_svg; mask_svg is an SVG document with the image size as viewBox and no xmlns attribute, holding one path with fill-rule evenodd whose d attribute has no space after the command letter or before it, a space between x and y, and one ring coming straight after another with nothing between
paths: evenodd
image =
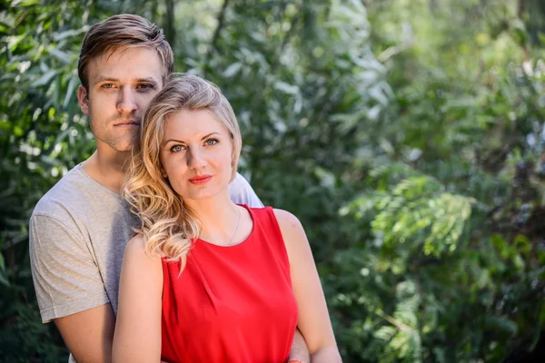
<instances>
[{"instance_id":1,"label":"man in grey t-shirt standing behind the blonde woman","mask_svg":"<svg viewBox=\"0 0 545 363\"><path fill-rule=\"evenodd\" d=\"M45 194L30 219L40 313L60 330L71 361L111 360L124 246L139 225L119 195L124 165L145 108L172 73L163 30L141 16L112 16L85 36L77 97L96 151ZM262 205L241 175L230 193L233 201Z\"/></svg>"}]
</instances>

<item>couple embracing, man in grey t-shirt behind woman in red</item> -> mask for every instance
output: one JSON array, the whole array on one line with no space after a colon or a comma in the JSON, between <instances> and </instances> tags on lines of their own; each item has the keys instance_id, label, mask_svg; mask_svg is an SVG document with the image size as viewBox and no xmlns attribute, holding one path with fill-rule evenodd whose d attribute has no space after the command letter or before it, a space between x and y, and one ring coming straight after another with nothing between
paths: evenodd
<instances>
[{"instance_id":1,"label":"couple embracing, man in grey t-shirt behind woman in red","mask_svg":"<svg viewBox=\"0 0 545 363\"><path fill-rule=\"evenodd\" d=\"M172 73L140 16L86 34L78 100L96 152L30 220L42 319L78 362L341 361L301 224L259 208L236 172L222 93Z\"/></svg>"}]
</instances>

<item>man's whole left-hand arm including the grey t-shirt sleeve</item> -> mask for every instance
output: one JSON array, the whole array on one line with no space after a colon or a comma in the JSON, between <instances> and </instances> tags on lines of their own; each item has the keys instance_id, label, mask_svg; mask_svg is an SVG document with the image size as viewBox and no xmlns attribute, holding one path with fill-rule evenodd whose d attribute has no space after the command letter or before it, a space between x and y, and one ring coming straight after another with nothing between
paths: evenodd
<instances>
[{"instance_id":1,"label":"man's whole left-hand arm including the grey t-shirt sleeve","mask_svg":"<svg viewBox=\"0 0 545 363\"><path fill-rule=\"evenodd\" d=\"M77 362L109 362L114 312L81 233L49 215L30 220L30 261L40 314L53 320Z\"/></svg>"}]
</instances>

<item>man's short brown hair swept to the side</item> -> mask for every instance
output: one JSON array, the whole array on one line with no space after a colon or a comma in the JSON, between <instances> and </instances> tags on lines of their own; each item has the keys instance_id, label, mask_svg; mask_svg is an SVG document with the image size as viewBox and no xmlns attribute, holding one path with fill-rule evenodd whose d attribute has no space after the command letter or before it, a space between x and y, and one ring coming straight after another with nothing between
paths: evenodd
<instances>
[{"instance_id":1,"label":"man's short brown hair swept to the side","mask_svg":"<svg viewBox=\"0 0 545 363\"><path fill-rule=\"evenodd\" d=\"M173 49L164 39L163 29L139 15L114 15L91 26L85 35L77 64L82 85L88 88L86 71L91 59L129 47L147 47L157 51L163 63L163 83L173 73Z\"/></svg>"}]
</instances>

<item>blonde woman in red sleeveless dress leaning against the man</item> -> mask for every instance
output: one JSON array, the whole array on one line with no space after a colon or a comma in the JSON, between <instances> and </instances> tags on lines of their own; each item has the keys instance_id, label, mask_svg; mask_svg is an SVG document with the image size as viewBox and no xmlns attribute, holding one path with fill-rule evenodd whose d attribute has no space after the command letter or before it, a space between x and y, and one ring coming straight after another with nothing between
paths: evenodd
<instances>
[{"instance_id":1,"label":"blonde woman in red sleeveless dress leaning against the man","mask_svg":"<svg viewBox=\"0 0 545 363\"><path fill-rule=\"evenodd\" d=\"M142 227L124 252L114 361L285 362L296 328L312 362L341 361L301 223L229 198L241 147L231 105L199 77L149 105L124 188Z\"/></svg>"}]
</instances>

